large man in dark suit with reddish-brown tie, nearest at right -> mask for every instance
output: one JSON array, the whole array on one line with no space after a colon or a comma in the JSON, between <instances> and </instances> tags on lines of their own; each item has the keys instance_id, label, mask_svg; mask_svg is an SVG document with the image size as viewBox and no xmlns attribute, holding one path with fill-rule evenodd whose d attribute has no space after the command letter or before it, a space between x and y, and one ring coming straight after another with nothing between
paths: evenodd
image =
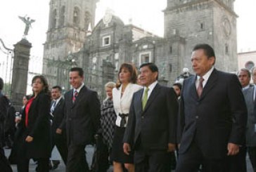
<instances>
[{"instance_id":1,"label":"large man in dark suit with reddish-brown tie, nearest at right","mask_svg":"<svg viewBox=\"0 0 256 172\"><path fill-rule=\"evenodd\" d=\"M247 110L235 74L215 69L215 52L207 44L193 48L196 76L184 80L179 113L177 172L226 170L229 156L245 143ZM181 134L182 133L182 134Z\"/></svg>"}]
</instances>

